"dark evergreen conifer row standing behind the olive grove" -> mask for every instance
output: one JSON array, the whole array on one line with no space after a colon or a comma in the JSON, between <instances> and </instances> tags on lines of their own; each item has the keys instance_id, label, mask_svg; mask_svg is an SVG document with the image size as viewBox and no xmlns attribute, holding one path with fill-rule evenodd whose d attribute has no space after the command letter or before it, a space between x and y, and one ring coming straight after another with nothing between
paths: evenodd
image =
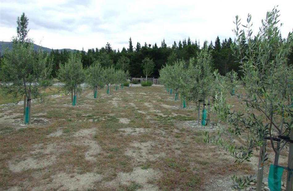
<instances>
[{"instance_id":1,"label":"dark evergreen conifer row standing behind the olive grove","mask_svg":"<svg viewBox=\"0 0 293 191\"><path fill-rule=\"evenodd\" d=\"M204 46L208 46L208 50L212 50L214 69L218 69L220 74L225 75L231 70L238 71L239 64L233 58L230 45L234 43L231 38L225 39L222 42L217 37L215 43L204 42ZM181 40L178 44L174 41L171 47L167 46L165 40L161 42L161 46L156 43L154 45L144 43L143 46L137 42L136 46L132 45L131 38L129 39L129 47L120 51L113 50L109 43L100 49L89 49L87 52L81 50L82 63L84 67L91 66L94 61L99 61L102 67L115 67L116 69L129 70L131 77L141 77L143 75L142 60L146 57L154 61L155 78L159 77L159 70L162 66L172 65L177 60L189 61L190 58L197 58L200 53L199 42ZM53 58L52 76L56 77L60 64L64 64L69 58L70 52L67 50L59 52L52 50L50 56Z\"/></svg>"}]
</instances>

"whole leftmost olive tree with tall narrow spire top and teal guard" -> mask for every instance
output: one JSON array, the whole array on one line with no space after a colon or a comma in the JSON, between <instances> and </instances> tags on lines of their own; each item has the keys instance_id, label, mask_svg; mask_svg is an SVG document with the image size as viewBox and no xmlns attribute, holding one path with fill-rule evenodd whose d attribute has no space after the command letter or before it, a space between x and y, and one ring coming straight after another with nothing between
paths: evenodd
<instances>
[{"instance_id":1,"label":"whole leftmost olive tree with tall narrow spire top and teal guard","mask_svg":"<svg viewBox=\"0 0 293 191\"><path fill-rule=\"evenodd\" d=\"M41 50L35 52L33 41L27 39L28 18L23 13L17 19L17 35L12 50L6 49L0 68L0 80L7 94L24 96L24 121L31 123L31 98L40 96L40 91L50 84L52 58Z\"/></svg>"}]
</instances>

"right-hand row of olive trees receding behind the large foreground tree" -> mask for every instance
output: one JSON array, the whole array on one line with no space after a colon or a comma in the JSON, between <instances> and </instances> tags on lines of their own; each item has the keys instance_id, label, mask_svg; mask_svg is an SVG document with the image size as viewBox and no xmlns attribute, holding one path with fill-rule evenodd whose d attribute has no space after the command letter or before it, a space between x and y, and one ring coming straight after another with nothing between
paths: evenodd
<instances>
[{"instance_id":1,"label":"right-hand row of olive trees receding behind the large foreground tree","mask_svg":"<svg viewBox=\"0 0 293 191\"><path fill-rule=\"evenodd\" d=\"M206 43L206 42L205 42ZM202 103L202 125L209 123L206 120L206 103L215 95L214 75L212 71L212 55L208 46L204 46L197 59L191 58L189 63L176 61L173 65L166 65L160 70L160 82L166 86L167 91L175 91L175 100L181 95L181 103L186 107L186 102L194 101L198 109L198 122L200 121L200 108ZM208 111L210 112L210 111Z\"/></svg>"}]
</instances>

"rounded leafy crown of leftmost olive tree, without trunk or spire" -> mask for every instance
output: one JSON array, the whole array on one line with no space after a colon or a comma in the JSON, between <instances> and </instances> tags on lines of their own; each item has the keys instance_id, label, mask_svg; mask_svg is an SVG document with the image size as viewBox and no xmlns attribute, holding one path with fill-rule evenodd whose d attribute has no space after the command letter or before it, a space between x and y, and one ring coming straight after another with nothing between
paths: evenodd
<instances>
[{"instance_id":1,"label":"rounded leafy crown of leftmost olive tree, without trunk or spire","mask_svg":"<svg viewBox=\"0 0 293 191\"><path fill-rule=\"evenodd\" d=\"M32 43L14 39L12 50L6 49L0 69L1 84L7 93L17 95L29 93L37 97L40 90L45 88L52 71L52 59L41 50L35 52Z\"/></svg>"}]
</instances>

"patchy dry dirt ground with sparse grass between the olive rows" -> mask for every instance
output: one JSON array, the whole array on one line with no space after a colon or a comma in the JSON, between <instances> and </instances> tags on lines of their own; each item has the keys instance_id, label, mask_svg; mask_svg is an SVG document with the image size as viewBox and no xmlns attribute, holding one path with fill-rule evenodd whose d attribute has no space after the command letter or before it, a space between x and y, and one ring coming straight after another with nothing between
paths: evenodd
<instances>
[{"instance_id":1,"label":"patchy dry dirt ground with sparse grass between the olive rows","mask_svg":"<svg viewBox=\"0 0 293 191\"><path fill-rule=\"evenodd\" d=\"M194 104L180 108L163 86L105 92L85 90L76 106L70 96L33 103L31 125L21 105L0 108L0 190L231 191L232 175L257 172L257 153L237 164L203 143L226 126L199 125Z\"/></svg>"}]
</instances>

